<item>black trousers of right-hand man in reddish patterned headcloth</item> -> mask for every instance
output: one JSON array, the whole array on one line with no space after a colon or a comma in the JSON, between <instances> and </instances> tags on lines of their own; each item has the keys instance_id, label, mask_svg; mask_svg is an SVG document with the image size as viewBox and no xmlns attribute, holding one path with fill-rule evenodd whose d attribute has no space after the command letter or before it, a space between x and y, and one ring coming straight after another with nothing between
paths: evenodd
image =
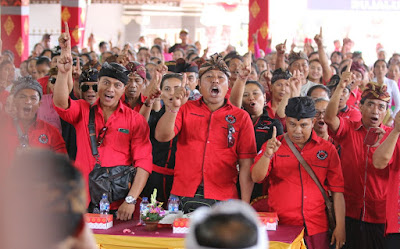
<instances>
[{"instance_id":1,"label":"black trousers of right-hand man in reddish patterned headcloth","mask_svg":"<svg viewBox=\"0 0 400 249\"><path fill-rule=\"evenodd\" d=\"M343 249L384 249L385 224L346 217L346 244Z\"/></svg>"}]
</instances>

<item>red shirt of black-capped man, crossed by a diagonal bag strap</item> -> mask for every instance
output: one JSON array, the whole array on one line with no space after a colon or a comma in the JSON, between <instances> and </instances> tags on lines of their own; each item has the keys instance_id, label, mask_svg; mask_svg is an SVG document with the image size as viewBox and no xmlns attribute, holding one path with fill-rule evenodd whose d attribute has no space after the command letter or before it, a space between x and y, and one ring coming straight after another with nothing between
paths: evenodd
<instances>
[{"instance_id":1,"label":"red shirt of black-capped man, crossed by a diagonal bag strap","mask_svg":"<svg viewBox=\"0 0 400 249\"><path fill-rule=\"evenodd\" d=\"M274 154L266 180L268 206L277 212L279 223L305 225L308 235L328 231L325 200L317 184L311 179L293 154L283 136L278 140L281 147ZM258 153L254 164L263 156L267 143ZM325 190L343 192L343 175L335 146L312 133L310 141L300 149L304 160L310 165ZM252 166L252 169L254 167Z\"/></svg>"}]
</instances>

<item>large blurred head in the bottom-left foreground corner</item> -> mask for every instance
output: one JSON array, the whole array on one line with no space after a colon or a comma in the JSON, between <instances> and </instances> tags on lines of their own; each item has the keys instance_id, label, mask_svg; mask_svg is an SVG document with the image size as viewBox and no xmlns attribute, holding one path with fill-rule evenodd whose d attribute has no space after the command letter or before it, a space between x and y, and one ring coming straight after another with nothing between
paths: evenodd
<instances>
[{"instance_id":1,"label":"large blurred head in the bottom-left foreground corner","mask_svg":"<svg viewBox=\"0 0 400 249\"><path fill-rule=\"evenodd\" d=\"M96 248L85 226L85 185L63 155L22 153L1 186L1 248Z\"/></svg>"}]
</instances>

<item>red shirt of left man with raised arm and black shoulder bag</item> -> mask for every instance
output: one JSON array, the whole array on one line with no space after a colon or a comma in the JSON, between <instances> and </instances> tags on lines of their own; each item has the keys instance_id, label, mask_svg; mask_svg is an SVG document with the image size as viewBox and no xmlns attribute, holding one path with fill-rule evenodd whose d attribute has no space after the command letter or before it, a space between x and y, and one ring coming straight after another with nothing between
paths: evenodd
<instances>
[{"instance_id":1,"label":"red shirt of left man with raised arm and black shoulder bag","mask_svg":"<svg viewBox=\"0 0 400 249\"><path fill-rule=\"evenodd\" d=\"M153 157L150 143L149 126L142 115L124 106L120 100L117 109L104 123L103 111L99 100L95 106L96 137L100 130L107 127L103 143L98 147L101 166L134 165L152 172ZM69 99L69 108L64 110L54 106L60 117L76 129L77 154L75 164L82 171L88 183L89 173L96 160L92 155L89 140L90 104L85 100ZM89 193L89 186L87 184Z\"/></svg>"}]
</instances>

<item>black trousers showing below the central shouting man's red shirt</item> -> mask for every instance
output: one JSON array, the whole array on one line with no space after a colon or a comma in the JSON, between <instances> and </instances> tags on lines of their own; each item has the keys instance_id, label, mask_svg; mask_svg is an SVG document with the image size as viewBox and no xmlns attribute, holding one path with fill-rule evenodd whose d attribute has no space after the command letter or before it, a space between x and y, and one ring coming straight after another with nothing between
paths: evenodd
<instances>
[{"instance_id":1,"label":"black trousers showing below the central shouting man's red shirt","mask_svg":"<svg viewBox=\"0 0 400 249\"><path fill-rule=\"evenodd\" d=\"M190 213L196 210L199 207L211 207L215 203L219 202L218 200L214 199L205 199L204 198L204 187L199 186L197 188L196 194L194 197L184 197L179 196L179 206L180 209L183 210L183 213Z\"/></svg>"}]
</instances>

